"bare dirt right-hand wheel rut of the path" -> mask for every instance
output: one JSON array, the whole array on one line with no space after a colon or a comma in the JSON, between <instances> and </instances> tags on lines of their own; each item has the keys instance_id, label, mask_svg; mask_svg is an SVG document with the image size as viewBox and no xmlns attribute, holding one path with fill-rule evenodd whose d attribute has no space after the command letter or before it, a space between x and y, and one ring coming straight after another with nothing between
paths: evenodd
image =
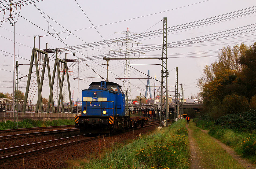
<instances>
[{"instance_id":1,"label":"bare dirt right-hand wheel rut of the path","mask_svg":"<svg viewBox=\"0 0 256 169\"><path fill-rule=\"evenodd\" d=\"M201 131L203 131L204 133L208 134L208 130L202 130L201 128L199 128ZM211 137L211 136L210 136ZM216 141L229 155L231 155L235 160L238 161L239 164L241 164L242 166L244 166L245 168L250 168L250 169L256 169L256 165L251 163L249 160L242 158L240 155L238 155L234 149L232 149L231 147L225 145L224 143L222 143L220 140L211 137L214 141Z\"/></svg>"}]
</instances>

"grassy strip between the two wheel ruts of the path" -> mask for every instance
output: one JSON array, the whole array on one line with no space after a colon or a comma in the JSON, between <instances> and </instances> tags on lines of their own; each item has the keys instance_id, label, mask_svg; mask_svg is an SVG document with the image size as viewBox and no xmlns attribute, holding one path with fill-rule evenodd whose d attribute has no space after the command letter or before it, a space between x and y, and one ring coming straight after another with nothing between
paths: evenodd
<instances>
[{"instance_id":1,"label":"grassy strip between the two wheel ruts of the path","mask_svg":"<svg viewBox=\"0 0 256 169\"><path fill-rule=\"evenodd\" d=\"M202 153L203 159L207 159L206 163L210 168L216 169L244 169L235 159L226 153L226 151L215 142L208 134L203 133L195 126L195 123L190 122L189 128L193 130L198 148Z\"/></svg>"}]
</instances>

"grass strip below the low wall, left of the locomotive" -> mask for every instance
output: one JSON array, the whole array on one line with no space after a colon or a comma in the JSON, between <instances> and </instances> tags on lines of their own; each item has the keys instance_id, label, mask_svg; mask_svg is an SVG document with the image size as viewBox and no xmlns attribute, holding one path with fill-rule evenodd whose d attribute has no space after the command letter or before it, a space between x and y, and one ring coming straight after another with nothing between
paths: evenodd
<instances>
[{"instance_id":1,"label":"grass strip below the low wall, left of the locomotive","mask_svg":"<svg viewBox=\"0 0 256 169\"><path fill-rule=\"evenodd\" d=\"M30 128L30 127L46 127L46 126L62 126L62 125L71 125L74 124L73 119L58 119L58 120L32 120L32 119L24 119L21 122L18 122L19 128ZM0 123L0 130L12 129L13 122L6 121Z\"/></svg>"}]
</instances>

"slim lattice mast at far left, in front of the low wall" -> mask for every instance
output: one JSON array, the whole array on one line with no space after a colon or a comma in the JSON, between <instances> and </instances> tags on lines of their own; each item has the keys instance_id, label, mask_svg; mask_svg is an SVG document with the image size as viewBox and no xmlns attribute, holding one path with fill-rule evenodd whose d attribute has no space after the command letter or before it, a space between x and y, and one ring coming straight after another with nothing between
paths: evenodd
<instances>
[{"instance_id":1,"label":"slim lattice mast at far left, in front of the low wall","mask_svg":"<svg viewBox=\"0 0 256 169\"><path fill-rule=\"evenodd\" d=\"M16 60L16 66L15 66L15 91L14 91L14 123L13 123L13 128L18 128L18 116L19 116L19 102L18 102L18 89L19 89L19 77L18 77L18 71L19 71L19 64L18 61Z\"/></svg>"}]
</instances>

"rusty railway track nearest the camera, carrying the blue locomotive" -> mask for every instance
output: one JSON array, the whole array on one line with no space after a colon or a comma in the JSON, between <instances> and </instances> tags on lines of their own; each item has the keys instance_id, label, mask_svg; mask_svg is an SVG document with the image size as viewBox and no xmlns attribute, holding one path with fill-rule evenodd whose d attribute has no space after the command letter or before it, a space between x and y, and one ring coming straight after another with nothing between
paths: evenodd
<instances>
[{"instance_id":1,"label":"rusty railway track nearest the camera, carrying the blue locomotive","mask_svg":"<svg viewBox=\"0 0 256 169\"><path fill-rule=\"evenodd\" d=\"M156 126L158 124L159 124L159 122L155 121L153 123L146 124L143 128ZM139 130L139 129L140 129L139 127L137 129L129 129L122 133L132 131L132 130ZM120 133L114 133L113 135L116 135L116 134L120 134ZM83 143L83 142L91 141L94 139L98 139L99 137L104 137L104 135L101 135L99 137L97 136L97 137L90 137L90 138L86 137L85 138L85 135L86 134L0 149L0 162L12 160L12 159L18 159L20 157L32 155L35 153L41 153L41 152L45 152L45 151L49 151L49 150L54 150L54 149L58 149L61 147L70 146L73 144L78 144L78 143Z\"/></svg>"}]
</instances>

